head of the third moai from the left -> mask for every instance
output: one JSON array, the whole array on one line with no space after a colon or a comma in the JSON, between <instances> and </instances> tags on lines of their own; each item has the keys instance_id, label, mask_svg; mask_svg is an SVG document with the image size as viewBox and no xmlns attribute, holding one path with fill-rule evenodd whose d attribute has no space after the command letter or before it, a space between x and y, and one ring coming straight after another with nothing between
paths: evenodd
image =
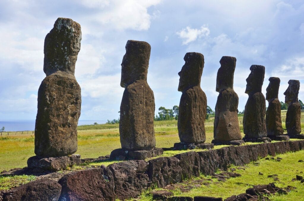
<instances>
[{"instance_id":1,"label":"head of the third moai from the left","mask_svg":"<svg viewBox=\"0 0 304 201\"><path fill-rule=\"evenodd\" d=\"M178 91L184 91L187 87L199 86L204 68L204 55L197 52L188 52L184 57L185 64L179 75Z\"/></svg>"}]
</instances>

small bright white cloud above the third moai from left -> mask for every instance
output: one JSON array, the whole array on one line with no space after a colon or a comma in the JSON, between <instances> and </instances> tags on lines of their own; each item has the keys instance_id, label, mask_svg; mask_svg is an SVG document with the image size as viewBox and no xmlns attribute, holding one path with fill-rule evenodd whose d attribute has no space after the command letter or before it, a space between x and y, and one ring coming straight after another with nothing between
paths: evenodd
<instances>
[{"instance_id":1,"label":"small bright white cloud above the third moai from left","mask_svg":"<svg viewBox=\"0 0 304 201\"><path fill-rule=\"evenodd\" d=\"M183 44L188 44L192 41L195 41L197 38L202 38L203 36L208 36L210 30L206 25L203 25L200 29L192 29L189 26L182 29L181 31L176 32L179 38L183 39Z\"/></svg>"}]
</instances>

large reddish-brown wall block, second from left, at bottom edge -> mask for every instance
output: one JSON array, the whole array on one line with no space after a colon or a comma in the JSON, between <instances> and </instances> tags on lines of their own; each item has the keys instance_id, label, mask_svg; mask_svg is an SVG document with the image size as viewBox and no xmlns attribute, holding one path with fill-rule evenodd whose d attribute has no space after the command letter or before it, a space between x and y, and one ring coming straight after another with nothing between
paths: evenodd
<instances>
[{"instance_id":1,"label":"large reddish-brown wall block, second from left, at bottom edge","mask_svg":"<svg viewBox=\"0 0 304 201\"><path fill-rule=\"evenodd\" d=\"M67 174L59 180L59 183L62 186L59 200L115 200L114 178L109 168Z\"/></svg>"}]
</instances>

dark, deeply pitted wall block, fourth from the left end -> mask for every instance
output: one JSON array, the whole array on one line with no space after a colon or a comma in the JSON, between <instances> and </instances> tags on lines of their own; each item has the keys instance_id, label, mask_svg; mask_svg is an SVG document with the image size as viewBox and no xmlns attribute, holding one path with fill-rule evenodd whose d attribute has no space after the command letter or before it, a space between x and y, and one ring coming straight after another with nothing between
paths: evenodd
<instances>
[{"instance_id":1,"label":"dark, deeply pitted wall block, fourth from the left end","mask_svg":"<svg viewBox=\"0 0 304 201\"><path fill-rule=\"evenodd\" d=\"M182 170L176 157L160 157L149 160L149 179L157 187L165 187L181 181Z\"/></svg>"}]
</instances>

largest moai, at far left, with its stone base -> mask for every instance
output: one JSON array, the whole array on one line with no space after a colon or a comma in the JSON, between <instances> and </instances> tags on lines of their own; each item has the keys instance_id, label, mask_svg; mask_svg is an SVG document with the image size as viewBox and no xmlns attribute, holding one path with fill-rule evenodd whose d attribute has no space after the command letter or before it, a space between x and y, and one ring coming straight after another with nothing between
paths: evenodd
<instances>
[{"instance_id":1,"label":"largest moai, at far left, with its stone base","mask_svg":"<svg viewBox=\"0 0 304 201\"><path fill-rule=\"evenodd\" d=\"M80 41L80 25L68 18L58 18L45 37L43 71L47 77L38 90L36 156L29 158L29 167L41 167L48 157L67 157L77 151L81 89L74 71ZM79 155L71 157L67 159L80 162ZM73 164L71 161L68 163ZM67 164L62 165L61 168L65 168Z\"/></svg>"}]
</instances>

